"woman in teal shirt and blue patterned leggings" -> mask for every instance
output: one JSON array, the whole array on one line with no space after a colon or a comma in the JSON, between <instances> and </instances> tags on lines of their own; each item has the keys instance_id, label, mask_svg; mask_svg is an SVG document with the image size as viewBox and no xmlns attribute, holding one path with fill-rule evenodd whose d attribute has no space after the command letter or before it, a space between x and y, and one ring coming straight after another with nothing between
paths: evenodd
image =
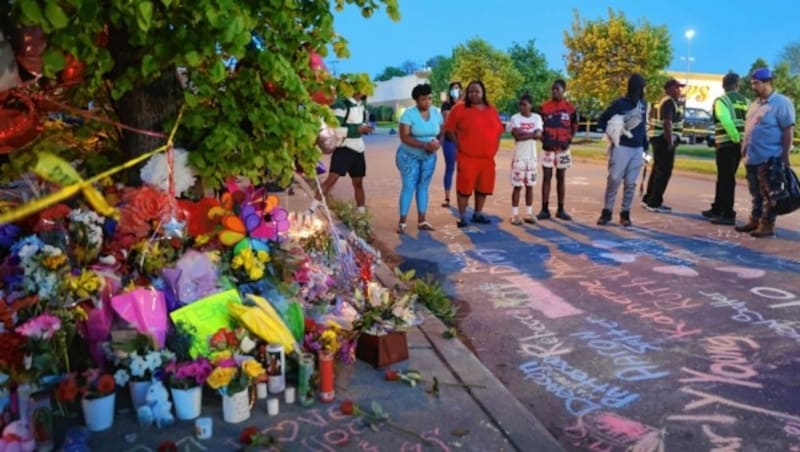
<instances>
[{"instance_id":1,"label":"woman in teal shirt and blue patterned leggings","mask_svg":"<svg viewBox=\"0 0 800 452\"><path fill-rule=\"evenodd\" d=\"M395 161L400 170L403 185L400 189L400 222L397 232L406 232L406 217L411 208L411 198L416 194L419 230L433 231L425 220L428 210L428 187L436 169L436 151L441 144L442 114L433 107L431 86L417 85L411 91L415 107L408 108L400 117L400 146Z\"/></svg>"}]
</instances>

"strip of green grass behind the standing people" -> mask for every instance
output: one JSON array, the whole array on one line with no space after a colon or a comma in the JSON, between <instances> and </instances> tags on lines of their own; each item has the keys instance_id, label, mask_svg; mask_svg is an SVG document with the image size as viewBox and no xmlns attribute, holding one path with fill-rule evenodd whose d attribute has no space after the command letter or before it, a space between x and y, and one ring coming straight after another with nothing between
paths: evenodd
<instances>
[{"instance_id":1,"label":"strip of green grass behind the standing people","mask_svg":"<svg viewBox=\"0 0 800 452\"><path fill-rule=\"evenodd\" d=\"M500 142L500 149L511 150L514 146L513 139L504 138ZM606 160L606 150L608 143L602 140L586 140L578 137L572 145L572 155L576 158L585 160ZM675 169L699 174L717 174L717 167L714 163L714 148L705 144L680 145L676 151ZM793 167L800 166L800 153L789 155L789 161ZM736 172L737 177L744 177L744 165L739 165Z\"/></svg>"}]
</instances>

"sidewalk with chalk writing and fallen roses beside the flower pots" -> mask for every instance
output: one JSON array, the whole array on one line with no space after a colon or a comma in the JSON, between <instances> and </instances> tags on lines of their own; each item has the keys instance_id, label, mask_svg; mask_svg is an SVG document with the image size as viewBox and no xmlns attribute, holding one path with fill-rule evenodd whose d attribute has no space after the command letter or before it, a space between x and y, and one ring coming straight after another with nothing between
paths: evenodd
<instances>
[{"instance_id":1,"label":"sidewalk with chalk writing and fallen roses beside the flower pots","mask_svg":"<svg viewBox=\"0 0 800 452\"><path fill-rule=\"evenodd\" d=\"M257 400L252 416L241 424L222 421L219 396L204 394L203 416L214 420L213 438L194 438L194 424L179 421L158 431L140 428L130 410L118 410L111 430L92 434L92 451L156 451L165 441L180 451L221 451L241 447L239 434L255 426L278 441L284 451L559 451L549 433L505 387L456 339L444 339L444 325L428 317L424 325L408 332L410 359L396 369L415 369L425 379L439 380L438 397L431 385L411 387L385 380L383 371L357 361L337 365L336 401L312 407L287 405L280 398L280 413L268 416L266 400ZM481 385L466 388L448 383ZM291 384L291 383L290 383ZM125 406L127 391L117 394ZM393 426L377 431L358 417L341 414L340 402L353 400L365 411L377 402Z\"/></svg>"}]
</instances>

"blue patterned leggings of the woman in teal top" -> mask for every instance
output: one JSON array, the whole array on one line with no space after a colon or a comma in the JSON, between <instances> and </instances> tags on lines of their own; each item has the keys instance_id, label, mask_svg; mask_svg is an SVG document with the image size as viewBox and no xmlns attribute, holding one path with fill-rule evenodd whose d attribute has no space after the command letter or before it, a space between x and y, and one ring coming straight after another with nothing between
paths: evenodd
<instances>
[{"instance_id":1,"label":"blue patterned leggings of the woman in teal top","mask_svg":"<svg viewBox=\"0 0 800 452\"><path fill-rule=\"evenodd\" d=\"M424 214L428 210L428 186L431 184L433 170L436 169L436 154L422 154L401 147L397 150L395 163L403 181L400 189L400 216L408 215L414 193L417 195L417 211Z\"/></svg>"}]
</instances>

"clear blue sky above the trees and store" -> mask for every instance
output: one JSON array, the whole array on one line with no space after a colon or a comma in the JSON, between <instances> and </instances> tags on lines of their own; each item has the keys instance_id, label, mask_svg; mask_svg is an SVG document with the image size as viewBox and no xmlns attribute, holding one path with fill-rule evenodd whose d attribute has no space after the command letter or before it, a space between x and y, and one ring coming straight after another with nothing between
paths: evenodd
<instances>
[{"instance_id":1,"label":"clear blue sky above the trees and store","mask_svg":"<svg viewBox=\"0 0 800 452\"><path fill-rule=\"evenodd\" d=\"M366 72L406 60L422 66L435 55L480 37L508 50L514 42L535 40L552 69L565 71L564 31L573 11L582 19L607 19L608 9L631 22L666 25L673 60L667 69L724 74L744 72L756 58L773 65L786 44L800 41L797 0L399 0L401 19L393 22L381 9L365 19L354 6L335 13L337 32L349 41L351 56L326 58L331 72ZM685 32L695 31L686 38ZM686 57L690 57L687 67Z\"/></svg>"}]
</instances>

